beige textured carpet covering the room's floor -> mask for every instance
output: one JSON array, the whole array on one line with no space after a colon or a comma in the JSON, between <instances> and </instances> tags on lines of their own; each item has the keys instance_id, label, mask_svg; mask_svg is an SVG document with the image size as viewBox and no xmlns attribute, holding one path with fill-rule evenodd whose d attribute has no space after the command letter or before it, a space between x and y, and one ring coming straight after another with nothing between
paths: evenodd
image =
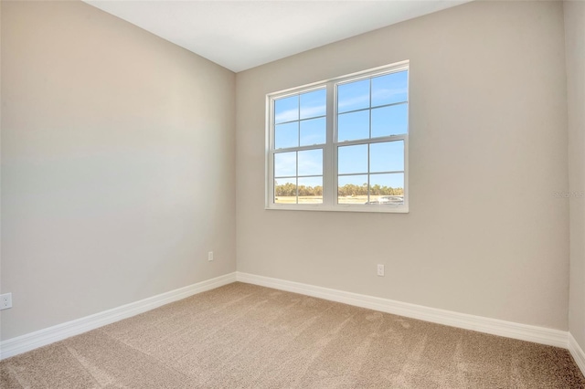
<instances>
[{"instance_id":1,"label":"beige textured carpet covering the room's floor","mask_svg":"<svg viewBox=\"0 0 585 389\"><path fill-rule=\"evenodd\" d=\"M584 388L569 352L234 283L17 355L8 388Z\"/></svg>"}]
</instances>

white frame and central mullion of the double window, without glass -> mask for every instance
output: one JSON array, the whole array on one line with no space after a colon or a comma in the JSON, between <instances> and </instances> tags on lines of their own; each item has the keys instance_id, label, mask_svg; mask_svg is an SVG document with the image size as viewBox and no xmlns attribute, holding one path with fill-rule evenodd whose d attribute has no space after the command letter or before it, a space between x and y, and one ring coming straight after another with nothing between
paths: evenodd
<instances>
[{"instance_id":1,"label":"white frame and central mullion of the double window, without glass","mask_svg":"<svg viewBox=\"0 0 585 389\"><path fill-rule=\"evenodd\" d=\"M389 73L407 70L407 132L379 138L360 139L348 142L336 142L337 128L337 85L360 79L370 79ZM282 149L274 149L274 100L305 93L316 89L326 89L326 141L319 146L291 147L290 151L314 150L323 148L323 204L279 204L274 202L274 153ZM370 107L371 110L371 107ZM335 79L314 82L293 89L285 89L266 95L266 153L265 153L265 209L295 211L342 211L342 212L376 212L376 213L409 213L409 135L410 135L410 61L370 68ZM354 144L372 144L376 142L404 142L404 202L401 205L352 205L337 203L337 148ZM368 172L369 174L369 172Z\"/></svg>"}]
</instances>

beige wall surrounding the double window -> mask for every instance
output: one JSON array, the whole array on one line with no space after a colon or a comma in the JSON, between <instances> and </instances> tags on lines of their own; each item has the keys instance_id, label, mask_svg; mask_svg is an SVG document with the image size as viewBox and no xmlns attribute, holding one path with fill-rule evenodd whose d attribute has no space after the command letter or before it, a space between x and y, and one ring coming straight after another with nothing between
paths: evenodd
<instances>
[{"instance_id":1,"label":"beige wall surrounding the double window","mask_svg":"<svg viewBox=\"0 0 585 389\"><path fill-rule=\"evenodd\" d=\"M239 271L567 330L563 47L562 3L474 2L239 73ZM264 210L265 94L403 59L410 214Z\"/></svg>"}]
</instances>

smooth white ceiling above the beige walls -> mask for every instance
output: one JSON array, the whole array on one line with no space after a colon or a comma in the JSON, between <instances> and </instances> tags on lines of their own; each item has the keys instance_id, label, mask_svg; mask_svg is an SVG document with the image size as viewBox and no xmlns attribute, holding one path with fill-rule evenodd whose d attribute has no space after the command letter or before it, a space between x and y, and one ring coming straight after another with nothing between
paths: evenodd
<instances>
[{"instance_id":1,"label":"smooth white ceiling above the beige walls","mask_svg":"<svg viewBox=\"0 0 585 389\"><path fill-rule=\"evenodd\" d=\"M235 72L471 0L84 0Z\"/></svg>"}]
</instances>

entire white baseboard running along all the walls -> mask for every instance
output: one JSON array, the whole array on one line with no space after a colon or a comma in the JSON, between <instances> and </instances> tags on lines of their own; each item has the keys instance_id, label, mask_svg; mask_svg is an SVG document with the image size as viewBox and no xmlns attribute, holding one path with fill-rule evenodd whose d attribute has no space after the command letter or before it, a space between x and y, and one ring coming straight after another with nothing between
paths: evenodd
<instances>
[{"instance_id":1,"label":"entire white baseboard running along all the walls","mask_svg":"<svg viewBox=\"0 0 585 389\"><path fill-rule=\"evenodd\" d=\"M185 288L171 290L148 299L122 305L121 307L112 310L105 310L74 321L58 324L44 330L8 339L4 342L0 342L0 360L22 352L34 350L49 343L62 341L63 339L94 330L115 321L130 318L147 310L154 310L154 308L176 300L185 299L206 290L228 285L236 280L268 288L301 293L324 300L342 302L371 310L379 310L412 319L419 319L421 321L431 321L438 324L463 328L465 330L491 333L527 342L537 342L562 347L564 349L569 348L569 352L579 365L580 370L585 373L585 353L569 332L566 331L519 324L512 321L500 321L481 316L453 312L451 310L438 310L406 302L381 299L343 290L317 287L283 279L271 279L241 272L229 273L215 279L207 279Z\"/></svg>"}]
</instances>

